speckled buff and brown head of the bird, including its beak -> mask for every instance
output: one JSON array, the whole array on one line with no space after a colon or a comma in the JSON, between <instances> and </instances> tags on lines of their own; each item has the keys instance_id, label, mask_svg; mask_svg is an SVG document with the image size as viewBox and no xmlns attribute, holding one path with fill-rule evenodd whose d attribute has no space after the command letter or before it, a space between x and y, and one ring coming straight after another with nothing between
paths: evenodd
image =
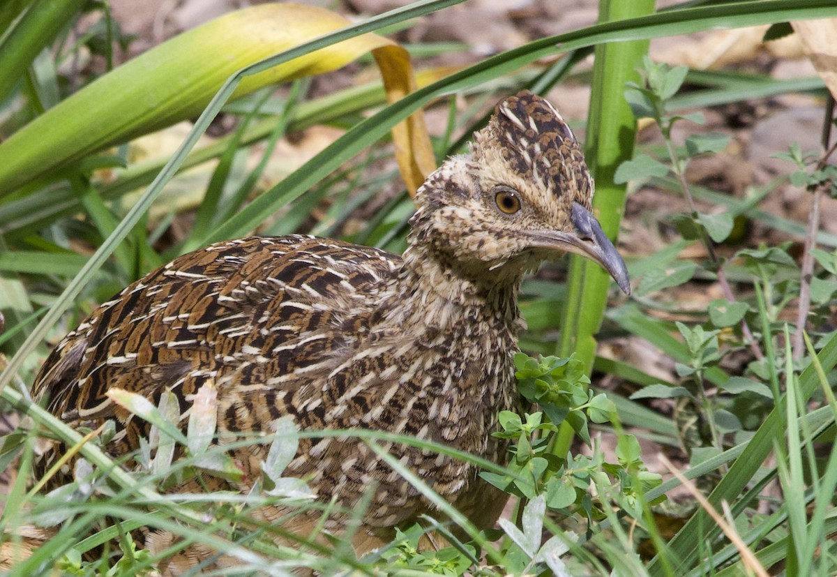
<instances>
[{"instance_id":1,"label":"speckled buff and brown head of the bird, including its beak","mask_svg":"<svg viewBox=\"0 0 837 577\"><path fill-rule=\"evenodd\" d=\"M593 217L593 178L567 123L540 96L502 100L416 193L411 242L467 276L519 279L565 253L598 262L630 291L628 271Z\"/></svg>"}]
</instances>

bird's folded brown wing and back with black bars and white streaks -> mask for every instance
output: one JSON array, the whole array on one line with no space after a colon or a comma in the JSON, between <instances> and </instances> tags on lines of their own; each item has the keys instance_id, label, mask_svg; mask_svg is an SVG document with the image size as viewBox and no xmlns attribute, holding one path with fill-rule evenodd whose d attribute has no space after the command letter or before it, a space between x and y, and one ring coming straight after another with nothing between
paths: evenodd
<instances>
[{"instance_id":1,"label":"bird's folded brown wing and back with black bars and white streaks","mask_svg":"<svg viewBox=\"0 0 837 577\"><path fill-rule=\"evenodd\" d=\"M117 429L128 429L116 453L135 450L148 427L114 404L108 390L155 404L172 390L185 415L208 382L222 398L239 394L242 384L298 389L305 384L300 371L347 345L339 329L362 316L399 264L381 250L303 235L210 245L96 309L49 355L33 393L70 425L116 417ZM256 416L230 428L253 425Z\"/></svg>"}]
</instances>

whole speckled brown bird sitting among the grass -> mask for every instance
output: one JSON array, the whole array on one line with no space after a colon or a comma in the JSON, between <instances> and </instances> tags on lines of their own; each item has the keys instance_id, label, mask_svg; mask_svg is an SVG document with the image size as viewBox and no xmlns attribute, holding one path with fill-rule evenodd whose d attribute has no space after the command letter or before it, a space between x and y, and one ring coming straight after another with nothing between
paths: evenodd
<instances>
[{"instance_id":1,"label":"whole speckled brown bird sitting among the grass","mask_svg":"<svg viewBox=\"0 0 837 577\"><path fill-rule=\"evenodd\" d=\"M564 252L602 263L624 289L624 263L590 213L593 183L557 111L529 93L497 106L470 154L451 157L416 195L403 256L311 236L249 237L178 257L105 302L59 343L35 394L75 427L116 421L107 447L136 451L150 429L114 403L126 389L174 393L182 425L198 390L217 390L218 443L272 432L371 429L412 435L503 464L491 435L516 410L513 356L526 270ZM505 497L475 466L429 449L382 446L478 527ZM231 450L259 478L267 448ZM434 513L362 440L304 437L285 471L352 509L373 491L359 552ZM266 509L272 521L283 511ZM345 513L326 530L340 533Z\"/></svg>"}]
</instances>

